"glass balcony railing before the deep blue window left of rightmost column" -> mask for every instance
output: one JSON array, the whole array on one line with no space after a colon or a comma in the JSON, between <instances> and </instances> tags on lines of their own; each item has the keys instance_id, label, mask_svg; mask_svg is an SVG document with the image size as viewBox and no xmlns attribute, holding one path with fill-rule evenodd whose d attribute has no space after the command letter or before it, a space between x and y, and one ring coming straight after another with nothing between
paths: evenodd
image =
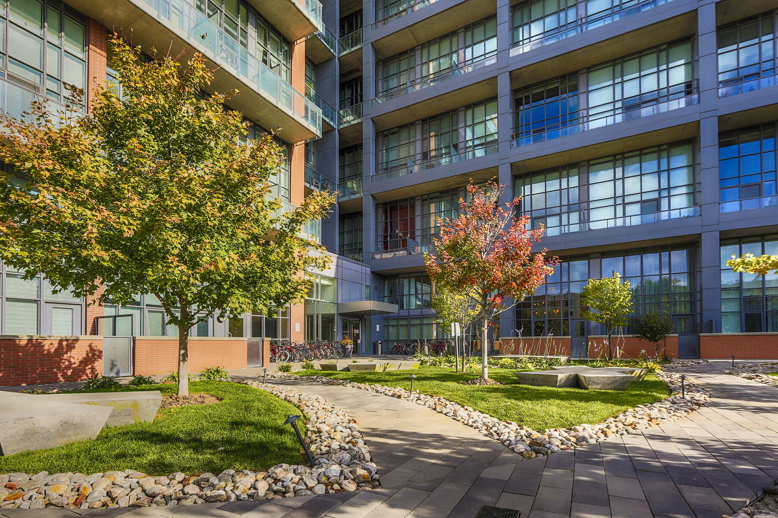
<instances>
[{"instance_id":1,"label":"glass balcony railing before the deep blue window left of rightmost column","mask_svg":"<svg viewBox=\"0 0 778 518\"><path fill-rule=\"evenodd\" d=\"M699 103L699 95L694 93L689 96L679 97L678 99L664 101L664 103L651 104L646 107L636 108L634 110L618 110L617 113L596 114L592 117L582 117L581 121L563 126L562 128L552 128L546 131L538 132L533 135L513 135L510 141L511 149L522 145L534 144L536 142L545 142L553 138L575 135L595 128L603 128L620 122L650 117L651 115L662 114L666 111L678 110Z\"/></svg>"}]
</instances>

